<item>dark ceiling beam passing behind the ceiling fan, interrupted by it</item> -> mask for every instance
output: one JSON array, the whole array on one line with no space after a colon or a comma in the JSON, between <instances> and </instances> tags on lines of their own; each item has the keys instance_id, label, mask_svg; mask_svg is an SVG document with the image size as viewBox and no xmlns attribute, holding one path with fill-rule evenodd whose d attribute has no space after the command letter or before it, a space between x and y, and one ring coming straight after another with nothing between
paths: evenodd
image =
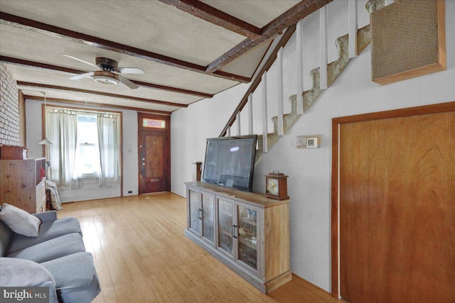
<instances>
[{"instance_id":1,"label":"dark ceiling beam passing behind the ceiling fan, interrupted by it","mask_svg":"<svg viewBox=\"0 0 455 303\"><path fill-rule=\"evenodd\" d=\"M34 67L34 68L41 69L41 70L52 70L52 71L58 71L58 72L65 72L65 73L76 74L76 75L85 74L85 72L86 72L84 70L73 70L72 68L68 68L68 67L60 67L57 65L50 65L50 64L23 60L23 59L18 59L18 58L14 58L14 57L6 57L6 56L0 56L0 62L4 62L6 64L24 66L24 67ZM213 97L213 94L206 94L204 92L195 92L195 91L191 91L188 89L179 89L177 87L167 87L164 85L146 83L146 82L140 82L140 81L134 81L134 80L130 80L130 81L133 82L134 84L139 85L140 87L149 87L152 89L160 89L160 90L164 90L166 92L176 92L179 94L190 94L192 96L198 96L198 97L203 97L203 98Z\"/></svg>"}]
</instances>

